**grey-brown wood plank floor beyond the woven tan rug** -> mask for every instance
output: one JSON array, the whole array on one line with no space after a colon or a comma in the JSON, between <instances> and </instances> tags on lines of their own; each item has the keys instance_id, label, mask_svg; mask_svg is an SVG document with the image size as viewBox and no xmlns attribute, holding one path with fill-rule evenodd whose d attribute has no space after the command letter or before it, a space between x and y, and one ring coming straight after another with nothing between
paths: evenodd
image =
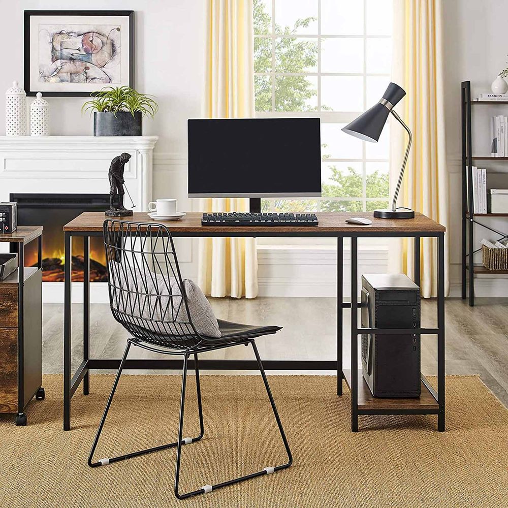
<instances>
[{"instance_id":1,"label":"grey-brown wood plank floor beyond the woven tan rug","mask_svg":"<svg viewBox=\"0 0 508 508\"><path fill-rule=\"evenodd\" d=\"M255 300L210 299L217 317L250 324L283 326L276 335L257 339L262 359L334 359L334 298L270 298ZM446 373L478 374L490 390L508 407L508 299L477 298L469 307L466 300L446 302ZM73 371L83 350L81 305L73 306ZM436 326L435 300L422 301L422 326ZM350 367L349 313L344 311L344 368ZM43 310L43 370L62 372L63 305L45 304ZM120 358L127 332L113 320L109 305L91 305L90 355L93 358ZM129 358L156 358L160 355L133 348ZM203 358L251 359L243 346L203 354ZM360 363L359 363L360 364ZM360 364L361 365L361 364ZM131 373L174 373L132 371ZM217 373L217 371L214 371ZM435 375L436 337L422 337L422 372ZM225 371L222 373L238 373ZM320 372L313 372L320 373ZM322 372L321 372L322 373Z\"/></svg>"}]
</instances>

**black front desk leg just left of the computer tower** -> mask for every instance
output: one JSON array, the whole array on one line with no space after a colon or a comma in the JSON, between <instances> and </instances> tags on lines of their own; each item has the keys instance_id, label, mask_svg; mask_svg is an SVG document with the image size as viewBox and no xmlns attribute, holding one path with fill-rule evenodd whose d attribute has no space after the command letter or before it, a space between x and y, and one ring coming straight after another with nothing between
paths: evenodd
<instances>
[{"instance_id":1,"label":"black front desk leg just left of the computer tower","mask_svg":"<svg viewBox=\"0 0 508 508\"><path fill-rule=\"evenodd\" d=\"M358 432L358 238L351 238L351 430Z\"/></svg>"}]
</instances>

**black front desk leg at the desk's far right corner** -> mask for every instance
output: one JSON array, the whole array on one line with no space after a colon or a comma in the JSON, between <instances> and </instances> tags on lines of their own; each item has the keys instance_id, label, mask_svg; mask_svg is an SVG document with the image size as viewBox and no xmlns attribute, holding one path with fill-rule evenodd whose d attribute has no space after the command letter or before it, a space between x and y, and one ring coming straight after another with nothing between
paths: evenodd
<instances>
[{"instance_id":1,"label":"black front desk leg at the desk's far right corner","mask_svg":"<svg viewBox=\"0 0 508 508\"><path fill-rule=\"evenodd\" d=\"M444 431L444 233L437 238L437 430Z\"/></svg>"}]
</instances>

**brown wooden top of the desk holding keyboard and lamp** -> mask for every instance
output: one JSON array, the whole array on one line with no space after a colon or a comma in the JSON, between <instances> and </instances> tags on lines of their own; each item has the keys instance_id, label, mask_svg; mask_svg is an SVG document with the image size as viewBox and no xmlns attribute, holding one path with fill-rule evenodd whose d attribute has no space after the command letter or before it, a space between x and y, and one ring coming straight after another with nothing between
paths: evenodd
<instances>
[{"instance_id":1,"label":"brown wooden top of the desk holding keyboard and lamp","mask_svg":"<svg viewBox=\"0 0 508 508\"><path fill-rule=\"evenodd\" d=\"M319 226L201 226L201 212L188 212L180 220L161 221L169 231L178 233L196 233L197 236L206 236L209 233L309 233L320 236L323 233L442 233L445 231L436 221L417 213L414 219L378 219L373 218L369 212L324 212L317 213ZM369 226L346 224L348 217L367 217L372 220ZM104 212L83 212L63 227L63 231L99 232L103 229ZM118 220L122 220L118 217ZM123 220L152 223L145 212L134 212ZM256 235L253 235L256 236ZM262 236L262 235L260 235ZM312 236L312 235L310 235Z\"/></svg>"}]
</instances>

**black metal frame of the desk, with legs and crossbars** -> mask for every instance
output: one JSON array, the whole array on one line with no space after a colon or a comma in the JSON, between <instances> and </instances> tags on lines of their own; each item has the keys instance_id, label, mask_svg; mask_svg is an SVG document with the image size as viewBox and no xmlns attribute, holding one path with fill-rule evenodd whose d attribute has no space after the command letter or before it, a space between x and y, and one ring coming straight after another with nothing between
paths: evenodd
<instances>
[{"instance_id":1,"label":"black metal frame of the desk, with legs and crossbars","mask_svg":"<svg viewBox=\"0 0 508 508\"><path fill-rule=\"evenodd\" d=\"M203 233L172 231L176 237L328 237L337 238L337 358L336 360L265 360L265 370L335 370L337 372L337 395L342 395L342 338L343 338L343 309L351 309L351 430L358 431L359 415L437 415L437 428L444 431L444 233L443 232L305 232L288 231L259 233L247 232L208 232ZM83 282L83 361L71 377L71 242L73 236L84 239L84 282ZM63 430L71 429L71 399L83 382L83 393L90 391L89 372L91 369L118 369L120 359L90 358L90 256L89 238L102 237L98 231L66 231L65 232L65 305L63 332ZM351 239L351 303L343 301L343 240ZM358 327L358 238L414 238L415 240L415 283L420 285L420 243L421 238L436 238L437 240L437 328L417 329L368 329ZM437 391L429 384L422 374L422 382L428 388L437 403L437 409L359 409L358 407L358 335L381 333L411 333L421 335L437 335ZM189 368L194 368L194 361L190 361ZM125 361L126 369L182 369L182 360L132 359ZM256 370L255 360L201 360L203 370Z\"/></svg>"}]
</instances>

